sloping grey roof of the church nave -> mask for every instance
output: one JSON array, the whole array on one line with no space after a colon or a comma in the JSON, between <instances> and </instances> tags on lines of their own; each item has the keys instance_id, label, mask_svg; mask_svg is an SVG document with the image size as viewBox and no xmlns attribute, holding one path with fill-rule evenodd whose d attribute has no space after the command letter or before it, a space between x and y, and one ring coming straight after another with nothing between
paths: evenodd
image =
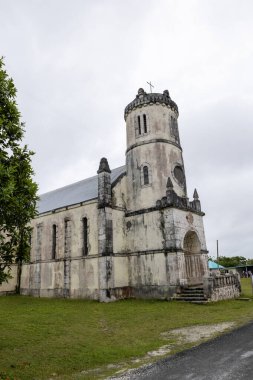
<instances>
[{"instance_id":1,"label":"sloping grey roof of the church nave","mask_svg":"<svg viewBox=\"0 0 253 380\"><path fill-rule=\"evenodd\" d=\"M126 171L125 165L113 169L111 172L112 183L116 181ZM86 178L71 185L61 187L48 193L40 195L37 209L41 214L57 208L71 206L96 199L98 196L98 176Z\"/></svg>"}]
</instances>

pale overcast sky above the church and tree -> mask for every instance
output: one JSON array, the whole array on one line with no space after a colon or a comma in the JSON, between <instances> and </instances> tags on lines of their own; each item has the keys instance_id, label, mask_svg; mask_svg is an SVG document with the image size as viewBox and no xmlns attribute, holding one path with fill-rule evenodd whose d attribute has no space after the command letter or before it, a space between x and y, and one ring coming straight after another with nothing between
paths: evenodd
<instances>
[{"instance_id":1,"label":"pale overcast sky above the church and tree","mask_svg":"<svg viewBox=\"0 0 253 380\"><path fill-rule=\"evenodd\" d=\"M124 108L151 80L179 107L209 254L218 239L253 258L252 15L252 0L0 0L40 193L125 163Z\"/></svg>"}]
</instances>

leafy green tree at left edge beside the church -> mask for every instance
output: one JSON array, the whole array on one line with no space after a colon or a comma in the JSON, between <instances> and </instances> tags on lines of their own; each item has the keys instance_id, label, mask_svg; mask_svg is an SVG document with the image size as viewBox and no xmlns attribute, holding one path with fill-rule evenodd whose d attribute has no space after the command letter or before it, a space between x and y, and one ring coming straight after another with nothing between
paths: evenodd
<instances>
[{"instance_id":1,"label":"leafy green tree at left edge beside the church","mask_svg":"<svg viewBox=\"0 0 253 380\"><path fill-rule=\"evenodd\" d=\"M37 184L33 181L33 152L22 146L24 123L16 103L17 90L0 58L0 284L18 264L17 291L22 263L29 258L31 227L36 215Z\"/></svg>"}]
</instances>

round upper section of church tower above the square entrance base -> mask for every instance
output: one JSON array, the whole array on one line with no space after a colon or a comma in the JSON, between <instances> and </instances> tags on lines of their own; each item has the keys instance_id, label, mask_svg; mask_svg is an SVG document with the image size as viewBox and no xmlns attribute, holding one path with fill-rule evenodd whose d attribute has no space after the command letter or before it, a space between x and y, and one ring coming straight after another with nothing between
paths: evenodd
<instances>
[{"instance_id":1,"label":"round upper section of church tower above the square entrance base","mask_svg":"<svg viewBox=\"0 0 253 380\"><path fill-rule=\"evenodd\" d=\"M168 178L180 197L187 198L178 107L168 90L138 90L125 108L127 131L127 209L152 208L164 196Z\"/></svg>"}]
</instances>

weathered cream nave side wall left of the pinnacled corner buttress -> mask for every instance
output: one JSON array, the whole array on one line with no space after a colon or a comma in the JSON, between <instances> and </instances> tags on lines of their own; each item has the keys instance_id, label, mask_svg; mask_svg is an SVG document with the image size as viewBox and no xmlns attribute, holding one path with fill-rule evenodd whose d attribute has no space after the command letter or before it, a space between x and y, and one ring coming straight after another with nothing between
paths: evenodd
<instances>
[{"instance_id":1,"label":"weathered cream nave side wall left of the pinnacled corner buttress","mask_svg":"<svg viewBox=\"0 0 253 380\"><path fill-rule=\"evenodd\" d=\"M87 218L86 253L83 218ZM97 203L91 201L41 215L33 221L33 227L31 264L23 266L21 293L97 299Z\"/></svg>"}]
</instances>

